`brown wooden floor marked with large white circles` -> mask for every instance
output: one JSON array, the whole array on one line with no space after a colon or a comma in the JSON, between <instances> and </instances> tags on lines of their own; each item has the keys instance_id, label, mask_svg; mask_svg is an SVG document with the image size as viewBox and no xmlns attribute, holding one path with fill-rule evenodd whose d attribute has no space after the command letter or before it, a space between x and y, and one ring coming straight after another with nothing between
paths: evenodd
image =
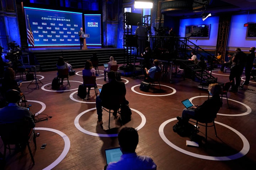
<instances>
[{"instance_id":1,"label":"brown wooden floor marked with large white circles","mask_svg":"<svg viewBox=\"0 0 256 170\"><path fill-rule=\"evenodd\" d=\"M103 67L99 67L98 87L103 81ZM103 128L97 125L95 108L95 92L91 90L91 98L81 100L77 96L78 86L82 83L81 70L69 78L71 87L64 81L58 91L51 89L51 82L56 71L37 72L39 90L36 85L24 80L21 90L26 96L30 110L38 115L36 118L37 149L30 143L35 159L32 165L28 149L23 153L6 155L6 170L102 170L105 161L104 149L117 147L116 134L122 128L111 116L108 130L108 113L103 113ZM218 82L228 80L229 72L218 73ZM243 74L244 77L244 74ZM18 79L19 77L17 77ZM132 109L132 120L126 126L138 129L139 144L136 149L139 155L150 156L159 170L233 170L254 169L256 167L256 82L251 80L249 86L237 93L229 92L229 106L223 99L216 121L218 137L214 128L208 128L208 145L200 147L186 146L189 137L181 137L172 130L177 122L176 117L183 110L182 100L193 99L193 104L202 104L207 100L208 92L197 88L199 83L190 79L184 80L180 75L172 74L161 79L161 90L153 93L142 92L139 84L143 76L124 77L126 98ZM243 78L245 79L245 78ZM28 88L27 88L28 86ZM248 89L247 89L248 88ZM46 120L48 118L48 120ZM198 135L204 136L201 127ZM46 143L45 149L40 149ZM0 152L4 146L0 143ZM8 152L7 152L8 153ZM254 168L253 168L254 167Z\"/></svg>"}]
</instances>

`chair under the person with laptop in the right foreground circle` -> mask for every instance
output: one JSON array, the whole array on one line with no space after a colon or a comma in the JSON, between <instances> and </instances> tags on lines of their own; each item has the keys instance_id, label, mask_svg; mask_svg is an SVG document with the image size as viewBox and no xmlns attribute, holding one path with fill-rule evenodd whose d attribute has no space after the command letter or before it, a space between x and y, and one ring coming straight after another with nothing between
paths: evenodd
<instances>
[{"instance_id":1,"label":"chair under the person with laptop in the right foreground circle","mask_svg":"<svg viewBox=\"0 0 256 170\"><path fill-rule=\"evenodd\" d=\"M215 127L215 123L214 120L217 117L217 113L219 112L219 109L222 107L222 102L219 103L219 106L216 106L214 109L209 109L209 112L206 113L207 115L209 115L208 117L198 117L198 118L191 118L193 120L189 120L190 122L196 123L195 128L198 129L198 125L204 126L206 127L206 141L207 141L207 127L214 127L214 131L215 131L215 136L217 136L217 131L216 131L216 127ZM209 125L211 124L211 125Z\"/></svg>"}]
</instances>

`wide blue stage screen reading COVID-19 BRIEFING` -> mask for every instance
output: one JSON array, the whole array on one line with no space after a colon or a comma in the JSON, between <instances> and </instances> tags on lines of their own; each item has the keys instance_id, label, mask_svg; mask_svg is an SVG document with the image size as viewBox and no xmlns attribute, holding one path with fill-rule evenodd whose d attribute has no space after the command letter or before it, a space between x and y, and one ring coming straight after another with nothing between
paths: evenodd
<instances>
[{"instance_id":1,"label":"wide blue stage screen reading COVID-19 BRIEFING","mask_svg":"<svg viewBox=\"0 0 256 170\"><path fill-rule=\"evenodd\" d=\"M24 10L35 46L80 45L78 32L82 27L82 13L31 7L24 7Z\"/></svg>"}]
</instances>

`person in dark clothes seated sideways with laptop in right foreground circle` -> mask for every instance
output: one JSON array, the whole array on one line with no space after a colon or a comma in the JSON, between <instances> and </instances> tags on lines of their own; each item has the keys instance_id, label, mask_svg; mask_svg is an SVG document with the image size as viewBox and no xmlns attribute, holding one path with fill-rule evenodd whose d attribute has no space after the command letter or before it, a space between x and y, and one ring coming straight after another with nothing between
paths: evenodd
<instances>
[{"instance_id":1,"label":"person in dark clothes seated sideways with laptop in right foreground circle","mask_svg":"<svg viewBox=\"0 0 256 170\"><path fill-rule=\"evenodd\" d=\"M218 83L213 83L208 86L209 94L212 95L208 100L200 106L195 105L193 109L183 109L182 117L178 116L177 119L183 124L187 124L189 119L202 118L207 119L211 118L212 115L209 114L210 111L214 111L219 108L221 104L219 94L222 91L221 86Z\"/></svg>"}]
</instances>

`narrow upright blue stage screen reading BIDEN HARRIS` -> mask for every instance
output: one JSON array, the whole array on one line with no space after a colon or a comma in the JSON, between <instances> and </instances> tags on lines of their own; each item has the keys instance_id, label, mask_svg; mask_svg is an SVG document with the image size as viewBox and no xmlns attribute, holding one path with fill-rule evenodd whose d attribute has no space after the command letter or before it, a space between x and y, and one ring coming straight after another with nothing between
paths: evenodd
<instances>
[{"instance_id":1,"label":"narrow upright blue stage screen reading BIDEN HARRIS","mask_svg":"<svg viewBox=\"0 0 256 170\"><path fill-rule=\"evenodd\" d=\"M101 15L85 14L85 34L90 34L90 38L86 38L87 45L101 45Z\"/></svg>"}]
</instances>

